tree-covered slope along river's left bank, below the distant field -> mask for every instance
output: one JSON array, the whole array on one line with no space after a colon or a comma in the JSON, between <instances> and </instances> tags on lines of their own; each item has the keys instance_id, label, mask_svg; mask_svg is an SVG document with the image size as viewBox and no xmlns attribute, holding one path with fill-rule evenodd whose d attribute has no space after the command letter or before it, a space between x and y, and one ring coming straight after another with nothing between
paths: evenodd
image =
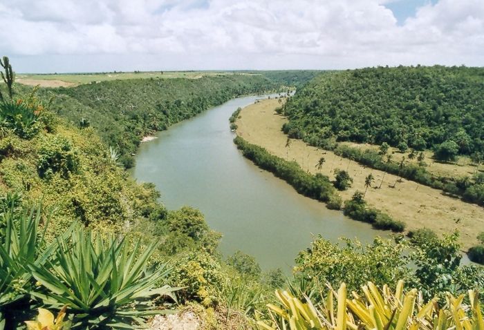
<instances>
[{"instance_id":1,"label":"tree-covered slope along river's left bank, below the distant field","mask_svg":"<svg viewBox=\"0 0 484 330\"><path fill-rule=\"evenodd\" d=\"M50 109L76 125L91 125L120 161L132 166L140 139L212 106L279 85L262 75L218 75L199 79L131 79L39 90L54 96ZM82 119L85 119L82 121ZM81 122L82 121L82 122Z\"/></svg>"}]
</instances>

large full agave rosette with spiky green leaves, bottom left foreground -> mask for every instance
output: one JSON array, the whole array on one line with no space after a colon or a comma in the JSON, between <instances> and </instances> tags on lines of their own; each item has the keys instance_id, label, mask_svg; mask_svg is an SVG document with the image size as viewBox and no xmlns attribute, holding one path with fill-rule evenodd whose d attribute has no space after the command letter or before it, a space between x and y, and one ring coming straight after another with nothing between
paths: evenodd
<instances>
[{"instance_id":1,"label":"large full agave rosette with spiky green leaves, bottom left foreground","mask_svg":"<svg viewBox=\"0 0 484 330\"><path fill-rule=\"evenodd\" d=\"M46 266L29 265L46 293L32 292L44 304L67 305L73 329L131 328L156 313L155 295L174 298L176 288L155 288L167 275L165 266L147 266L155 244L142 251L140 243L100 235L77 227L68 240L59 240Z\"/></svg>"}]
</instances>

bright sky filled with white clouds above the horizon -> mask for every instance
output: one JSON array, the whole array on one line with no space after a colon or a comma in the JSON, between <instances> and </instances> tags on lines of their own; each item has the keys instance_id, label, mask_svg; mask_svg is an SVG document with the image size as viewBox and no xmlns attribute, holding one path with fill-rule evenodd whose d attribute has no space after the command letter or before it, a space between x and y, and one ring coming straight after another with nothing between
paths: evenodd
<instances>
[{"instance_id":1,"label":"bright sky filled with white clouds above the horizon","mask_svg":"<svg viewBox=\"0 0 484 330\"><path fill-rule=\"evenodd\" d=\"M0 0L17 72L484 65L484 0Z\"/></svg>"}]
</instances>

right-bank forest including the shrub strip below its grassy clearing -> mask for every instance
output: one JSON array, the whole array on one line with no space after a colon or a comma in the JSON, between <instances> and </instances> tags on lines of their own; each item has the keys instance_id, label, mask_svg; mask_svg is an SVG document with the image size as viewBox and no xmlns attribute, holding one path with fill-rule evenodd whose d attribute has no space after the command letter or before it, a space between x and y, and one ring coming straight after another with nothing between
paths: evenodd
<instances>
[{"instance_id":1,"label":"right-bank forest including the shrub strip below its grassy clearing","mask_svg":"<svg viewBox=\"0 0 484 330\"><path fill-rule=\"evenodd\" d=\"M335 151L366 166L484 205L481 175L433 175L418 164L390 161L386 153L342 146L353 141L395 146L404 152L434 149L449 162L484 154L484 83L481 68L367 68L319 75L281 109L290 137ZM416 153L413 152L413 155Z\"/></svg>"}]
</instances>

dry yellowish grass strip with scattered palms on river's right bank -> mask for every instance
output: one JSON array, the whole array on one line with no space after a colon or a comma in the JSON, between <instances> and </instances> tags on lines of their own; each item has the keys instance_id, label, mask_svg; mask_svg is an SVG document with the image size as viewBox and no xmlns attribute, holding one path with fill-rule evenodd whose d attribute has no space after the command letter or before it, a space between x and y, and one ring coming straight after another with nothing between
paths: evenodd
<instances>
[{"instance_id":1,"label":"dry yellowish grass strip with scattered palms on river's right bank","mask_svg":"<svg viewBox=\"0 0 484 330\"><path fill-rule=\"evenodd\" d=\"M273 155L296 160L310 173L319 172L316 164L320 157L326 159L321 173L330 179L334 179L332 172L335 168L347 170L354 181L351 188L341 192L344 200L350 199L356 190L364 191L364 179L370 173L375 177L373 186L377 187L384 176L382 188L368 189L365 199L369 204L387 212L395 220L403 221L407 230L427 227L436 233L447 233L458 229L465 249L477 244L476 235L484 231L484 208L406 179L391 188L398 179L395 175L349 162L331 151L318 151L301 140L291 139L290 147L286 148L287 136L281 127L287 119L275 113L279 106L277 99L268 99L243 108L236 122L237 134L252 144L263 146Z\"/></svg>"}]
</instances>

